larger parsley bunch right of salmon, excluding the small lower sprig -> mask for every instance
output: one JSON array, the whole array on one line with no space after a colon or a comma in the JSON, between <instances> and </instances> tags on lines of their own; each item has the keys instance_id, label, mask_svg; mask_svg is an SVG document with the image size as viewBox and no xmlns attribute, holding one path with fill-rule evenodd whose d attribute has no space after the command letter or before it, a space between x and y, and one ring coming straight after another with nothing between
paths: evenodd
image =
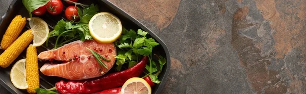
<instances>
[{"instance_id":1,"label":"larger parsley bunch right of salmon, excluding the small lower sprig","mask_svg":"<svg viewBox=\"0 0 306 94\"><path fill-rule=\"evenodd\" d=\"M146 34L148 34L148 32L141 29L138 29L137 33L133 29L122 29L122 34L116 43L118 48L124 51L124 53L118 52L118 56L116 57L116 65L118 65L116 69L118 71L124 63L129 63L129 67L131 67L135 65L135 62L138 62L141 57L150 56L153 47L159 45L153 38L147 38Z\"/></svg>"}]
</instances>

